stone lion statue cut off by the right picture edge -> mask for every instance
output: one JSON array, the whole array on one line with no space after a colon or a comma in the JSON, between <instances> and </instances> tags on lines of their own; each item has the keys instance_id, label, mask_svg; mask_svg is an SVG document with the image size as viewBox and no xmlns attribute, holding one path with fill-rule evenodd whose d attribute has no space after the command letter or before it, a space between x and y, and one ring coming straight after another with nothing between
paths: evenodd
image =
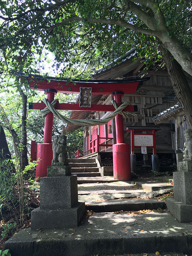
<instances>
[{"instance_id":1,"label":"stone lion statue cut off by the right picture edge","mask_svg":"<svg viewBox=\"0 0 192 256\"><path fill-rule=\"evenodd\" d=\"M192 160L192 129L186 129L184 135L183 160Z\"/></svg>"}]
</instances>

